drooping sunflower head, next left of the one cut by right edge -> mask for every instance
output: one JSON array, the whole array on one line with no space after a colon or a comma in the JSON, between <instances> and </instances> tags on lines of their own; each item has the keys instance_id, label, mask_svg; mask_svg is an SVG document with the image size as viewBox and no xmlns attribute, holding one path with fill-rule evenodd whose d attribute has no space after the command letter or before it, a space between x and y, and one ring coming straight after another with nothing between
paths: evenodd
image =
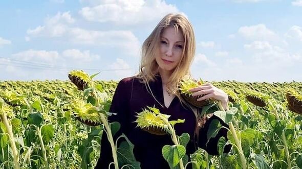
<instances>
[{"instance_id":1,"label":"drooping sunflower head, next left of the one cut by right edge","mask_svg":"<svg viewBox=\"0 0 302 169\"><path fill-rule=\"evenodd\" d=\"M248 91L245 98L256 106L265 107L268 105L269 96L258 91Z\"/></svg>"}]
</instances>

